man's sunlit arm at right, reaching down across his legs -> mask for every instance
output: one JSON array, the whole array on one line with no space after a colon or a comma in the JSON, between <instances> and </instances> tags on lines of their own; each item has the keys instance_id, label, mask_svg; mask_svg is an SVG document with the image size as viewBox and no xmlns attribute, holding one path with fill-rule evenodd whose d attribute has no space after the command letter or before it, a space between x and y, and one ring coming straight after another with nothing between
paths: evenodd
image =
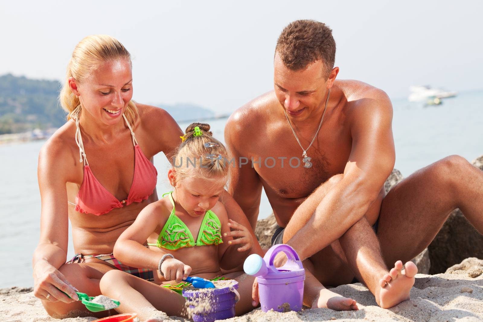
<instances>
[{"instance_id":1,"label":"man's sunlit arm at right, reaching down across his legs","mask_svg":"<svg viewBox=\"0 0 483 322\"><path fill-rule=\"evenodd\" d=\"M287 242L301 259L339 239L367 212L394 167L391 101L380 90L355 107L352 150L343 178L317 206L312 217Z\"/></svg>"}]
</instances>

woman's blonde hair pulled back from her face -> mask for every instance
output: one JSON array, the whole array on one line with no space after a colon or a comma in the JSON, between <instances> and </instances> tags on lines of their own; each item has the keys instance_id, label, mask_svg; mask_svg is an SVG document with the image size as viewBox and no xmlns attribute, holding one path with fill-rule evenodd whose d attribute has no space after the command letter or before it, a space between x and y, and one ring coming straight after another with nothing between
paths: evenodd
<instances>
[{"instance_id":1,"label":"woman's blonde hair pulled back from her face","mask_svg":"<svg viewBox=\"0 0 483 322\"><path fill-rule=\"evenodd\" d=\"M69 77L73 77L77 82L82 82L101 63L118 59L128 59L131 63L131 55L128 50L117 39L108 35L90 35L75 46L71 60L67 64L65 83L59 94L62 108L69 113L68 120L72 118L72 112L80 106L79 98L72 93L69 86ZM128 122L134 126L138 109L133 100L129 102L124 114L128 118Z\"/></svg>"}]
</instances>

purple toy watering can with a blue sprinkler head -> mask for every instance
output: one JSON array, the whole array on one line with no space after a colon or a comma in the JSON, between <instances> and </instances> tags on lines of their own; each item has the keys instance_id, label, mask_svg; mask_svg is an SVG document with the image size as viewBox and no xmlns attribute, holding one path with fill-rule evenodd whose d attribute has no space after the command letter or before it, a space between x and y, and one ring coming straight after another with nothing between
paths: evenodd
<instances>
[{"instance_id":1,"label":"purple toy watering can with a blue sprinkler head","mask_svg":"<svg viewBox=\"0 0 483 322\"><path fill-rule=\"evenodd\" d=\"M279 252L287 255L284 266L276 268L273 259ZM285 244L272 246L261 258L257 254L247 257L243 270L257 277L260 306L264 312L299 311L302 309L305 270L297 252Z\"/></svg>"}]
</instances>

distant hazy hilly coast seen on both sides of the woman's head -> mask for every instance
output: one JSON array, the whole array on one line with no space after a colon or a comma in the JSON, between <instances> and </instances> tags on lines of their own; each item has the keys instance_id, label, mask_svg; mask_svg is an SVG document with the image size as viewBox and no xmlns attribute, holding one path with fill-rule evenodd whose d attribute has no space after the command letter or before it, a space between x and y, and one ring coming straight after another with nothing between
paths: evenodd
<instances>
[{"instance_id":1,"label":"distant hazy hilly coast seen on both sides of the woman's head","mask_svg":"<svg viewBox=\"0 0 483 322\"><path fill-rule=\"evenodd\" d=\"M66 113L57 100L58 81L0 76L0 134L19 133L34 128L59 127ZM168 111L177 122L213 118L214 112L194 104L153 104Z\"/></svg>"}]
</instances>

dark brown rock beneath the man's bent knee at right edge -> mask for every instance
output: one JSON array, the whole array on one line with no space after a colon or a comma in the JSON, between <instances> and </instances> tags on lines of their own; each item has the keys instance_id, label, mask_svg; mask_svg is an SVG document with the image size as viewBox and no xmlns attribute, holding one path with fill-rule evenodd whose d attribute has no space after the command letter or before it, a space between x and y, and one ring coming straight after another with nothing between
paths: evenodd
<instances>
[{"instance_id":1,"label":"dark brown rock beneath the man's bent knee at right edge","mask_svg":"<svg viewBox=\"0 0 483 322\"><path fill-rule=\"evenodd\" d=\"M431 268L429 274L444 273L468 257L483 258L483 236L456 209L428 246Z\"/></svg>"}]
</instances>

